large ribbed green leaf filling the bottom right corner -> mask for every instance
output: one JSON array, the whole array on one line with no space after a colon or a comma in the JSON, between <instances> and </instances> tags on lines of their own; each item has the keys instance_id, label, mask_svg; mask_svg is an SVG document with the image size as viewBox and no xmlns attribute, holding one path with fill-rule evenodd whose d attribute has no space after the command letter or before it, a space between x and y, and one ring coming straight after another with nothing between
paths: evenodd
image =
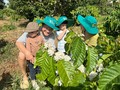
<instances>
[{"instance_id":1,"label":"large ribbed green leaf filling the bottom right corner","mask_svg":"<svg viewBox=\"0 0 120 90\"><path fill-rule=\"evenodd\" d=\"M114 83L120 83L120 63L114 64L103 71L98 81L99 90L110 90Z\"/></svg>"}]
</instances>

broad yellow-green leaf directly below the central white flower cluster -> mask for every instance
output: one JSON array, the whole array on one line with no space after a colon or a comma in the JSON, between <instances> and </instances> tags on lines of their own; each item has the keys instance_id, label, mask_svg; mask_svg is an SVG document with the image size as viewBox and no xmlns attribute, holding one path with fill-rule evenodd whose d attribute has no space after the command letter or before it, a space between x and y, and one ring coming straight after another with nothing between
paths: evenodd
<instances>
[{"instance_id":1,"label":"broad yellow-green leaf directly below the central white flower cluster","mask_svg":"<svg viewBox=\"0 0 120 90\"><path fill-rule=\"evenodd\" d=\"M57 62L57 69L63 85L67 87L69 82L73 79L73 75L75 74L74 67L70 62L60 60Z\"/></svg>"}]
</instances>

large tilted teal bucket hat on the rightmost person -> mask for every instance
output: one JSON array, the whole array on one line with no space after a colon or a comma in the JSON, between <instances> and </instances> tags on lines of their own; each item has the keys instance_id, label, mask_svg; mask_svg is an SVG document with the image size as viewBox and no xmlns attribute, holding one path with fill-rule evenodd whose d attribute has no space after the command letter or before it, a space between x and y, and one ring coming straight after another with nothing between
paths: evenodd
<instances>
[{"instance_id":1,"label":"large tilted teal bucket hat on the rightmost person","mask_svg":"<svg viewBox=\"0 0 120 90\"><path fill-rule=\"evenodd\" d=\"M85 18L81 15L77 17L78 22L86 29L90 34L97 34L97 20L93 16L86 16Z\"/></svg>"}]
</instances>

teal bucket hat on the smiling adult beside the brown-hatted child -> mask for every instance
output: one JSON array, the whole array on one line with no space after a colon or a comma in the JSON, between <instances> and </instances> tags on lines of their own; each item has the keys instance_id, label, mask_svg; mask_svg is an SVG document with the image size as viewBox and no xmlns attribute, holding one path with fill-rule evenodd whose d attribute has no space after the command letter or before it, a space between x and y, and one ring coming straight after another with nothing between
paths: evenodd
<instances>
[{"instance_id":1,"label":"teal bucket hat on the smiling adult beside the brown-hatted child","mask_svg":"<svg viewBox=\"0 0 120 90\"><path fill-rule=\"evenodd\" d=\"M46 24L47 26L49 26L50 28L52 28L53 30L59 30L59 28L57 28L55 26L56 24L56 19L50 16L46 16L44 18L44 20L42 21L42 23Z\"/></svg>"}]
</instances>

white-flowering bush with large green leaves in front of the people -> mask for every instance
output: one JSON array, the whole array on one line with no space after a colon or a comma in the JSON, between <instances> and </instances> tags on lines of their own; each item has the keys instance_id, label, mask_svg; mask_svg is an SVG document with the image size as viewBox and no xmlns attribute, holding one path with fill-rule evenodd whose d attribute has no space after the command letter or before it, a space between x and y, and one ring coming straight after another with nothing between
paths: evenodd
<instances>
[{"instance_id":1,"label":"white-flowering bush with large green leaves in front of the people","mask_svg":"<svg viewBox=\"0 0 120 90\"><path fill-rule=\"evenodd\" d=\"M94 47L86 47L79 35L70 31L66 37L66 53L42 46L36 54L35 66L41 67L37 79L48 81L55 90L106 90L120 82L118 62L105 61L112 54L98 55ZM51 46L50 46L51 47ZM118 54L118 53L117 53ZM112 84L115 84L112 86ZM116 89L117 90L117 89Z\"/></svg>"}]
</instances>

